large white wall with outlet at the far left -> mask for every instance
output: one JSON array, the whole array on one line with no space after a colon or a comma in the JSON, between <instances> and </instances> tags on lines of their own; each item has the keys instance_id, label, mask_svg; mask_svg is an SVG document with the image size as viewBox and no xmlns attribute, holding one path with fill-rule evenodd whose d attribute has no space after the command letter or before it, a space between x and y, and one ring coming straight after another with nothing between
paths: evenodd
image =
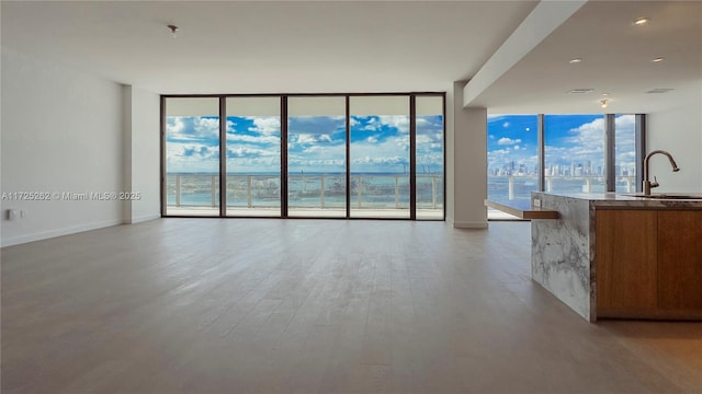
<instances>
[{"instance_id":1,"label":"large white wall with outlet at the far left","mask_svg":"<svg viewBox=\"0 0 702 394\"><path fill-rule=\"evenodd\" d=\"M120 84L3 47L2 106L3 246L122 222L118 200L56 195L123 190ZM52 200L9 200L20 192ZM7 209L25 216L10 221Z\"/></svg>"}]
</instances>

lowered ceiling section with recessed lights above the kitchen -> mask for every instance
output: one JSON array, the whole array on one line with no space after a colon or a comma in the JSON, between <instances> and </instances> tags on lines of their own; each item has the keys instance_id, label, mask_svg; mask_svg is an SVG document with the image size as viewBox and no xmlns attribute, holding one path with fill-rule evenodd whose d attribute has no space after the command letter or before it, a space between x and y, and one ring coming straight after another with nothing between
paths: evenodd
<instances>
[{"instance_id":1,"label":"lowered ceiling section with recessed lights above the kitchen","mask_svg":"<svg viewBox=\"0 0 702 394\"><path fill-rule=\"evenodd\" d=\"M636 26L638 16L650 21ZM568 63L576 57L582 62ZM566 93L574 89L595 91ZM675 90L645 93L654 89ZM602 99L610 100L607 109ZM589 1L471 105L492 113L650 113L681 102L702 105L700 1Z\"/></svg>"}]
</instances>

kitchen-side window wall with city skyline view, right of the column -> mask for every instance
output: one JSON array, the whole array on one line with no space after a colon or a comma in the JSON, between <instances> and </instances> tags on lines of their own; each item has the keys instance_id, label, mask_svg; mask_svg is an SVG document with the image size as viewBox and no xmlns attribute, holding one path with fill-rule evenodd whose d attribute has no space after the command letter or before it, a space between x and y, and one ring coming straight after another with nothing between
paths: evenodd
<instances>
[{"instance_id":1,"label":"kitchen-side window wall with city skyline view, right of the column","mask_svg":"<svg viewBox=\"0 0 702 394\"><path fill-rule=\"evenodd\" d=\"M642 158L637 149L645 149L636 147L637 134L643 132L638 118L621 114L488 116L488 199L529 204L531 192L540 189L636 192ZM541 147L539 135L543 136ZM498 217L503 215L488 210L488 218Z\"/></svg>"}]
</instances>

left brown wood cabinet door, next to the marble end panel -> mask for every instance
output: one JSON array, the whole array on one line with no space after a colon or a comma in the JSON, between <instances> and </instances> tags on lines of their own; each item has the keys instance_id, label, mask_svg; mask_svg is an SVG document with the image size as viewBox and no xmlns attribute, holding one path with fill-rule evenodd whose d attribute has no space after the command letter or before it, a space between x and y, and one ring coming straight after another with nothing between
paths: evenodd
<instances>
[{"instance_id":1,"label":"left brown wood cabinet door, next to the marble end panel","mask_svg":"<svg viewBox=\"0 0 702 394\"><path fill-rule=\"evenodd\" d=\"M656 221L650 210L596 211L598 316L636 316L656 309Z\"/></svg>"}]
</instances>

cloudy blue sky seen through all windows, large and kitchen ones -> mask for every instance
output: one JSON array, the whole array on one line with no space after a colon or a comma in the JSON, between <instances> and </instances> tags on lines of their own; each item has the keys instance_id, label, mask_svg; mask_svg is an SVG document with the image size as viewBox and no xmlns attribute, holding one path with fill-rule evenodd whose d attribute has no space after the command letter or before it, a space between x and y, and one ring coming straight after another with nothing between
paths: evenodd
<instances>
[{"instance_id":1,"label":"cloudy blue sky seen through all windows, large and kitchen ones","mask_svg":"<svg viewBox=\"0 0 702 394\"><path fill-rule=\"evenodd\" d=\"M288 119L288 171L343 173L346 121L343 116L294 116ZM417 118L418 173L441 173L442 116ZM634 116L615 117L616 163L634 167ZM350 161L352 173L405 173L409 169L409 117L352 116ZM546 167L588 161L603 167L602 115L548 115ZM167 171L216 173L219 158L219 120L211 116L167 118ZM227 172L280 171L279 116L227 117ZM533 173L537 163L536 116L488 117L488 171L514 161Z\"/></svg>"}]
</instances>

